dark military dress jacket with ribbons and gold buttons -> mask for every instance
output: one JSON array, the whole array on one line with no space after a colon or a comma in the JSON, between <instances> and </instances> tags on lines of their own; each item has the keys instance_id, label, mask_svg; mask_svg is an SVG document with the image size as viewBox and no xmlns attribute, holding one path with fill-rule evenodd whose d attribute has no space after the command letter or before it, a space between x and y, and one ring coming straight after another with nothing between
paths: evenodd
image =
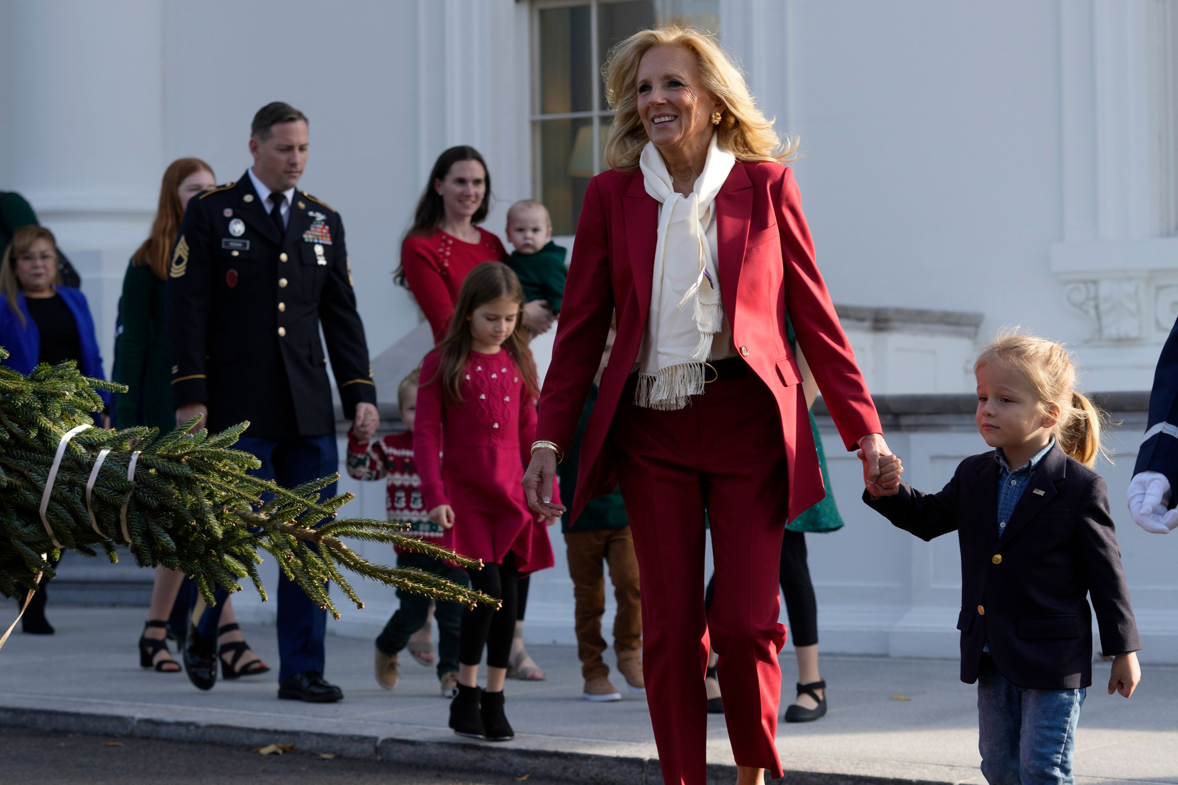
<instances>
[{"instance_id":1,"label":"dark military dress jacket with ribbons and gold buttons","mask_svg":"<svg viewBox=\"0 0 1178 785\"><path fill-rule=\"evenodd\" d=\"M296 191L280 235L249 173L188 202L167 279L176 406L246 435L335 433L327 342L344 406L376 403L339 214Z\"/></svg>"}]
</instances>

